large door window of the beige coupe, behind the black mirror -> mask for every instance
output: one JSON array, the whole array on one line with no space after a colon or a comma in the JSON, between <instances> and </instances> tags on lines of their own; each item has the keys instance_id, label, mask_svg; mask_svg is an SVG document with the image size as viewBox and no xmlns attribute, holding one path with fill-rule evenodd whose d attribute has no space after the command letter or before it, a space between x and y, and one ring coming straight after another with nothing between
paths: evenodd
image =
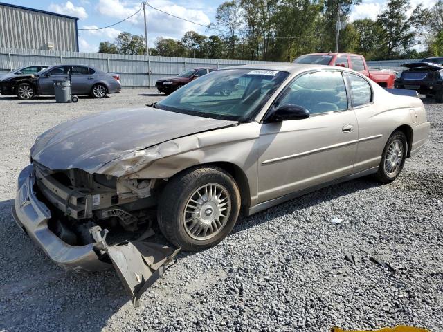
<instances>
[{"instance_id":1,"label":"large door window of the beige coupe, behind the black mirror","mask_svg":"<svg viewBox=\"0 0 443 332\"><path fill-rule=\"evenodd\" d=\"M341 71L317 71L302 75L287 87L278 104L296 104L311 114L347 109Z\"/></svg>"}]
</instances>

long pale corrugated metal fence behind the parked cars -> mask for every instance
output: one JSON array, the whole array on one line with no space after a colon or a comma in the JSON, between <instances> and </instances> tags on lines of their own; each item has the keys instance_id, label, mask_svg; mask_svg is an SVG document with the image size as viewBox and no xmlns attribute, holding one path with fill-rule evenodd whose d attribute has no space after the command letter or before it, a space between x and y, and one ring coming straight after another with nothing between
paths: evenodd
<instances>
[{"instance_id":1,"label":"long pale corrugated metal fence behind the parked cars","mask_svg":"<svg viewBox=\"0 0 443 332\"><path fill-rule=\"evenodd\" d=\"M404 62L408 62L408 60L370 61L368 66L402 71L404 68L401 68L400 64ZM159 78L177 75L190 67L213 66L215 68L223 68L226 66L257 63L263 62L0 48L0 72L10 71L11 69L31 64L87 64L109 73L120 74L123 86L127 87L154 86ZM148 73L151 75L148 75Z\"/></svg>"}]
</instances>

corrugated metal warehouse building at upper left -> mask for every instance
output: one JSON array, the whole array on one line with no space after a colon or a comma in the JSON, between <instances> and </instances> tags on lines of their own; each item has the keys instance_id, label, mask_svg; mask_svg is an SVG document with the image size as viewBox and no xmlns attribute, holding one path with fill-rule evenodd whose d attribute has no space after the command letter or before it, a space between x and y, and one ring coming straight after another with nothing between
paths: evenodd
<instances>
[{"instance_id":1,"label":"corrugated metal warehouse building at upper left","mask_svg":"<svg viewBox=\"0 0 443 332\"><path fill-rule=\"evenodd\" d=\"M0 2L0 47L78 52L77 17Z\"/></svg>"}]
</instances>

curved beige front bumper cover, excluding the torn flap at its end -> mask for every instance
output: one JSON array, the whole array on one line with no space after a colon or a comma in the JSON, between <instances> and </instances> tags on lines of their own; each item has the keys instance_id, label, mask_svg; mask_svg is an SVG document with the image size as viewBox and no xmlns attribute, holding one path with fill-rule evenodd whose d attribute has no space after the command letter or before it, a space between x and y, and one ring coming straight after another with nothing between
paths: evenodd
<instances>
[{"instance_id":1,"label":"curved beige front bumper cover, excluding the torn flap at its end","mask_svg":"<svg viewBox=\"0 0 443 332\"><path fill-rule=\"evenodd\" d=\"M55 264L73 270L97 271L111 268L112 265L98 259L94 246L71 246L57 237L48 228L51 211L37 199L34 191L35 169L29 165L19 175L17 196L12 215L15 222L44 250Z\"/></svg>"}]
</instances>

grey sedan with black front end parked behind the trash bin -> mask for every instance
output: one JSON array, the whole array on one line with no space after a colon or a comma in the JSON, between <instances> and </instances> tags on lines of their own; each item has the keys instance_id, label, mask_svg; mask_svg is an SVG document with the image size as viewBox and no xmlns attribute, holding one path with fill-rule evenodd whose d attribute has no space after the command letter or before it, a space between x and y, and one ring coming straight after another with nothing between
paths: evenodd
<instances>
[{"instance_id":1,"label":"grey sedan with black front end parked behind the trash bin","mask_svg":"<svg viewBox=\"0 0 443 332\"><path fill-rule=\"evenodd\" d=\"M35 75L17 75L0 82L2 95L17 95L30 100L36 95L54 95L54 80L68 80L71 73L71 93L104 98L121 90L120 76L105 73L91 66L58 65L45 68Z\"/></svg>"}]
</instances>

